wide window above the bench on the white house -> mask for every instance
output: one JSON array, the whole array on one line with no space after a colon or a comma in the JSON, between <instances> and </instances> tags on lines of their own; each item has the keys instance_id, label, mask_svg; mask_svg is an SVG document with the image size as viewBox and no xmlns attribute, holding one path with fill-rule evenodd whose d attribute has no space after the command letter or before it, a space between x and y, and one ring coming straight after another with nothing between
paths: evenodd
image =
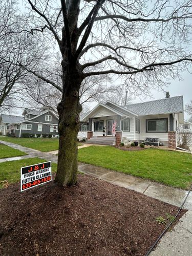
<instances>
[{"instance_id":1,"label":"wide window above the bench on the white house","mask_svg":"<svg viewBox=\"0 0 192 256\"><path fill-rule=\"evenodd\" d=\"M168 119L146 120L146 132L167 132Z\"/></svg>"}]
</instances>

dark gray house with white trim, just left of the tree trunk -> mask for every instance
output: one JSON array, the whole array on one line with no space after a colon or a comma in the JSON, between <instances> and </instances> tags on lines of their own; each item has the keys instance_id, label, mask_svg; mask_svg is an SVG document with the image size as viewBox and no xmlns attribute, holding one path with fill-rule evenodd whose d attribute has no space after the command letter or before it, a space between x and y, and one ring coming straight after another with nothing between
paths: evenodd
<instances>
[{"instance_id":1,"label":"dark gray house with white trim, just left of the tree trunk","mask_svg":"<svg viewBox=\"0 0 192 256\"><path fill-rule=\"evenodd\" d=\"M48 134L58 137L58 117L51 111L30 111L25 109L24 117L10 122L10 133L16 137L23 137L23 134L42 135Z\"/></svg>"}]
</instances>

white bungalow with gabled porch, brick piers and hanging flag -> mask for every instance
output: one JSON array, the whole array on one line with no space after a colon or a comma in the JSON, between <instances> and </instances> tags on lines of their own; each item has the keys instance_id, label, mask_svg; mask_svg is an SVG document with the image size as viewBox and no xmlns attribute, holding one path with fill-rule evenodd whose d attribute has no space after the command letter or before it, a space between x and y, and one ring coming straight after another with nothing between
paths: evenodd
<instances>
[{"instance_id":1,"label":"white bungalow with gabled porch, brick piers and hanging flag","mask_svg":"<svg viewBox=\"0 0 192 256\"><path fill-rule=\"evenodd\" d=\"M107 101L99 103L80 121L78 137L87 137L90 142L109 140L110 143L122 141L126 144L155 138L163 145L176 147L177 129L184 122L183 96L126 106Z\"/></svg>"}]
</instances>

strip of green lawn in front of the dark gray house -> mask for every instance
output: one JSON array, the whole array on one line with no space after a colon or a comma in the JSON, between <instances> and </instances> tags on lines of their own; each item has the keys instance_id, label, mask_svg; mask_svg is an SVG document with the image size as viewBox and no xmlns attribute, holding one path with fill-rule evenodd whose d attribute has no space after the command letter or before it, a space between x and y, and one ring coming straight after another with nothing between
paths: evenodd
<instances>
[{"instance_id":1,"label":"strip of green lawn in front of the dark gray house","mask_svg":"<svg viewBox=\"0 0 192 256\"><path fill-rule=\"evenodd\" d=\"M49 152L58 150L59 139L58 138L12 138L12 137L0 137L0 140L12 142L18 145L33 148L42 152ZM78 146L82 144L78 143Z\"/></svg>"}]
</instances>

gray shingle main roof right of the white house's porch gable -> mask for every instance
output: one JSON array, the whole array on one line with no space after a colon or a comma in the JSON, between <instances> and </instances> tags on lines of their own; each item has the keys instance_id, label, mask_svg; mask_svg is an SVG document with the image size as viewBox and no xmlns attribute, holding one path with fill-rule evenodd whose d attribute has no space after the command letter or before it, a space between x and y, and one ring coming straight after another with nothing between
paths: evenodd
<instances>
[{"instance_id":1,"label":"gray shingle main roof right of the white house's porch gable","mask_svg":"<svg viewBox=\"0 0 192 256\"><path fill-rule=\"evenodd\" d=\"M183 96L129 104L126 105L126 109L139 116L181 113L183 112Z\"/></svg>"}]
</instances>

